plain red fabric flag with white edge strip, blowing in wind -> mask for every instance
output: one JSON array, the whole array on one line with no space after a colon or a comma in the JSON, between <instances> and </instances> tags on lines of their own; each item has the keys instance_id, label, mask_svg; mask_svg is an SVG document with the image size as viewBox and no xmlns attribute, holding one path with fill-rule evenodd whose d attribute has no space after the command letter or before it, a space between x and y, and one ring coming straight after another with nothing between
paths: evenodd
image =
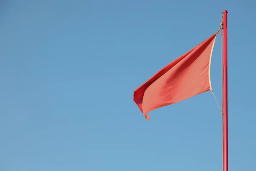
<instances>
[{"instance_id":1,"label":"plain red fabric flag with white edge strip, blowing in wind","mask_svg":"<svg viewBox=\"0 0 256 171\"><path fill-rule=\"evenodd\" d=\"M212 89L210 67L217 33L172 61L134 91L134 102L146 119L150 119L147 113L151 110Z\"/></svg>"}]
</instances>

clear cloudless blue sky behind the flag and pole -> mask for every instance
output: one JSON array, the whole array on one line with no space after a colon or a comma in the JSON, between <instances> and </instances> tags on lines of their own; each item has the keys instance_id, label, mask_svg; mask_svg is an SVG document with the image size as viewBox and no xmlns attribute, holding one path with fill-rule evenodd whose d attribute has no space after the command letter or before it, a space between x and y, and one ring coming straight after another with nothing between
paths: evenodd
<instances>
[{"instance_id":1,"label":"clear cloudless blue sky behind the flag and pole","mask_svg":"<svg viewBox=\"0 0 256 171\"><path fill-rule=\"evenodd\" d=\"M221 171L210 92L154 110L133 92L228 10L229 168L256 168L253 0L0 1L0 171ZM221 39L212 57L221 102Z\"/></svg>"}]
</instances>

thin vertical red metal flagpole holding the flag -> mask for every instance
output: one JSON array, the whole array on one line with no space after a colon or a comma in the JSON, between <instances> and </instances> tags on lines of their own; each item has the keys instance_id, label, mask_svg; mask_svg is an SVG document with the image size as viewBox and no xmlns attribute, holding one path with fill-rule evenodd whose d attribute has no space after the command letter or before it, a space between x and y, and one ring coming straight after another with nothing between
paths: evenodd
<instances>
[{"instance_id":1,"label":"thin vertical red metal flagpole holding the flag","mask_svg":"<svg viewBox=\"0 0 256 171\"><path fill-rule=\"evenodd\" d=\"M227 130L227 10L223 12L224 31L224 171L228 171L228 130Z\"/></svg>"}]
</instances>

